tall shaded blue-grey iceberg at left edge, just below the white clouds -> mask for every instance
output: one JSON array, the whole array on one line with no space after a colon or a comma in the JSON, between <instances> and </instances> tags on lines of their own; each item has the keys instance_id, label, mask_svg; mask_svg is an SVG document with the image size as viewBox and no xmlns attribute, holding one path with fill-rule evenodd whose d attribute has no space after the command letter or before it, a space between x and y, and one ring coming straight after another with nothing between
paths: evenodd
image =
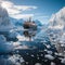
<instances>
[{"instance_id":1,"label":"tall shaded blue-grey iceberg at left edge, just below the white clouds","mask_svg":"<svg viewBox=\"0 0 65 65\"><path fill-rule=\"evenodd\" d=\"M9 31L13 28L10 22L8 11L0 4L0 31Z\"/></svg>"}]
</instances>

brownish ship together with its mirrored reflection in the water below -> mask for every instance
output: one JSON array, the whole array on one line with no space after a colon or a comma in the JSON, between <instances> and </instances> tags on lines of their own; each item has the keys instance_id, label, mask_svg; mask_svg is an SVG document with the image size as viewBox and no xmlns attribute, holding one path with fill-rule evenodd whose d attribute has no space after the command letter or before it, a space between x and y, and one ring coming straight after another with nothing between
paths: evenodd
<instances>
[{"instance_id":1,"label":"brownish ship together with its mirrored reflection in the water below","mask_svg":"<svg viewBox=\"0 0 65 65\"><path fill-rule=\"evenodd\" d=\"M24 30L24 36L28 37L29 41L31 41L31 38L37 34L37 24L29 17L27 22L24 22L23 27L26 29Z\"/></svg>"}]
</instances>

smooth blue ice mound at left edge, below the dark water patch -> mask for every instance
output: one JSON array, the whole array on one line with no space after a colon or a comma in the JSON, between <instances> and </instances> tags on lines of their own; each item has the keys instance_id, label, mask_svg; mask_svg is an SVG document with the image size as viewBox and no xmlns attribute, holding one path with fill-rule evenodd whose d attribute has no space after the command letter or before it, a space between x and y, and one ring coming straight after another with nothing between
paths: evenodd
<instances>
[{"instance_id":1,"label":"smooth blue ice mound at left edge, below the dark water patch","mask_svg":"<svg viewBox=\"0 0 65 65\"><path fill-rule=\"evenodd\" d=\"M0 53L9 53L14 50L13 44L6 42L5 37L0 35Z\"/></svg>"}]
</instances>

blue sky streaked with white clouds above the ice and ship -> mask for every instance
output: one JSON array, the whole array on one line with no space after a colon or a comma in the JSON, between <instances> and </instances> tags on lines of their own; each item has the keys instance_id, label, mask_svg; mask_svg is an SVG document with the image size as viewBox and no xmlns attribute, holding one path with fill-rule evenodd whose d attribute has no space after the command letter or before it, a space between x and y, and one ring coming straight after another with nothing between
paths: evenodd
<instances>
[{"instance_id":1,"label":"blue sky streaked with white clouds above the ice and ship","mask_svg":"<svg viewBox=\"0 0 65 65\"><path fill-rule=\"evenodd\" d=\"M48 24L52 14L65 6L65 0L0 0L13 18L39 20Z\"/></svg>"}]
</instances>

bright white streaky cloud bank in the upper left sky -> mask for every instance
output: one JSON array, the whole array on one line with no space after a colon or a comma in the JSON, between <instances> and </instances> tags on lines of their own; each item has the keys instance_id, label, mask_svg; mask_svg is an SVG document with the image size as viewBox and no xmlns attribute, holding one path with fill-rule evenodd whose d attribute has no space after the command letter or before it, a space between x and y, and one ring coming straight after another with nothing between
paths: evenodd
<instances>
[{"instance_id":1,"label":"bright white streaky cloud bank in the upper left sky","mask_svg":"<svg viewBox=\"0 0 65 65\"><path fill-rule=\"evenodd\" d=\"M23 11L35 10L37 6L35 5L16 5L11 1L1 0L1 5L5 8L9 12L9 15L14 18L23 18L34 16L34 14L22 14Z\"/></svg>"}]
</instances>

